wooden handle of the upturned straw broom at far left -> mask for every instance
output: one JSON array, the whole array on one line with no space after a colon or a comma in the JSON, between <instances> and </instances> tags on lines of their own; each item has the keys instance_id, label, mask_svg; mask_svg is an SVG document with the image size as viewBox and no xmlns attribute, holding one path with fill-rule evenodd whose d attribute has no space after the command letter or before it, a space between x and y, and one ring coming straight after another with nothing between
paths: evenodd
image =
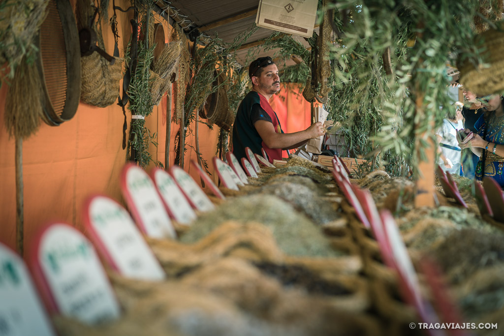
<instances>
[{"instance_id":1,"label":"wooden handle of the upturned straw broom at far left","mask_svg":"<svg viewBox=\"0 0 504 336\"><path fill-rule=\"evenodd\" d=\"M16 249L24 253L23 138L16 137Z\"/></svg>"}]
</instances>

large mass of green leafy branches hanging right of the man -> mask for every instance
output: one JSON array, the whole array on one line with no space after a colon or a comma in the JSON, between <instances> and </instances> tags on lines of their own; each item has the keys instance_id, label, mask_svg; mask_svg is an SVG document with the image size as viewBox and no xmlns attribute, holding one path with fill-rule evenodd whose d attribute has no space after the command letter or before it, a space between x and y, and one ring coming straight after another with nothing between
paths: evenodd
<instances>
[{"instance_id":1,"label":"large mass of green leafy branches hanging right of the man","mask_svg":"<svg viewBox=\"0 0 504 336\"><path fill-rule=\"evenodd\" d=\"M451 103L447 62L478 57L470 28L476 6L455 0L338 2L337 9L349 11L351 20L340 46L332 49L328 109L342 123L352 156L381 153L392 174L406 171L398 169L400 162L417 166L415 148L424 157L427 140L446 114L439 107ZM406 46L410 38L416 39L412 48ZM391 48L392 76L384 71L386 48Z\"/></svg>"}]
</instances>

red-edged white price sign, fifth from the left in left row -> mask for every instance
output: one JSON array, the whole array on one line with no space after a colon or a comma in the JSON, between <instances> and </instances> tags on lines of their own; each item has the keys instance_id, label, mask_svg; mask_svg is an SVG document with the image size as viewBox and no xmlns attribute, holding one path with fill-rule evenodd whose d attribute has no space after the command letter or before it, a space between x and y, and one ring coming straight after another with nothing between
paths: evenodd
<instances>
[{"instance_id":1,"label":"red-edged white price sign, fifth from the left in left row","mask_svg":"<svg viewBox=\"0 0 504 336\"><path fill-rule=\"evenodd\" d=\"M152 177L171 218L185 225L194 221L196 213L170 174L163 169L155 168Z\"/></svg>"}]
</instances>

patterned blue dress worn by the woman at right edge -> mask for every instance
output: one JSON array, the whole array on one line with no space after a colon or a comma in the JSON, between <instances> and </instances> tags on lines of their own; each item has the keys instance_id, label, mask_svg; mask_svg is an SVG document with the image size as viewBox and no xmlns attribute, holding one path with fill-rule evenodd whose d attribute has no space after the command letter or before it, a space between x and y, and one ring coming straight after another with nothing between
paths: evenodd
<instances>
[{"instance_id":1,"label":"patterned blue dress worn by the woman at right edge","mask_svg":"<svg viewBox=\"0 0 504 336\"><path fill-rule=\"evenodd\" d=\"M485 113L486 114L486 113ZM485 141L494 143L497 145L504 145L504 115L496 117L495 112L490 112L486 117L485 114L479 117L478 121L474 124L474 127L478 130L478 135ZM486 136L484 136L486 129ZM487 153L492 153L493 145L488 147ZM485 160L485 175L491 176L497 183L502 187L504 186L504 176L502 171L504 170L504 158L496 156L497 160L490 160L488 157ZM482 157L479 158L478 164L476 165L475 178L477 180L482 179Z\"/></svg>"}]
</instances>

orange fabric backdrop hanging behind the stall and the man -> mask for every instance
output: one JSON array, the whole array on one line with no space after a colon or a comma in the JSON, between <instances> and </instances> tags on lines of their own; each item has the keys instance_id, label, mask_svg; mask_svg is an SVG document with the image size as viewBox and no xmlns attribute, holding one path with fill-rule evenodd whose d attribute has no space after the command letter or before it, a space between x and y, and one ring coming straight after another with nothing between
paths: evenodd
<instances>
[{"instance_id":1,"label":"orange fabric backdrop hanging behind the stall and the man","mask_svg":"<svg viewBox=\"0 0 504 336\"><path fill-rule=\"evenodd\" d=\"M124 0L116 1L116 5L123 8L129 7L128 4ZM128 15L118 12L119 36L125 40L131 34ZM168 42L171 27L158 16L154 16L154 19L163 24ZM114 40L109 29L104 30L103 37L106 50L111 52ZM120 42L121 56L124 48L124 43ZM287 93L287 90L296 90L295 85L288 84L283 88L281 96L286 97L285 101L280 96L275 96L272 98L272 106L278 112L284 131L306 128L309 125L309 104L306 110L307 103L302 103L299 94ZM0 89L0 241L15 248L15 143L14 139L9 139L4 125L6 95L7 85L4 85ZM301 117L303 111L307 111L307 119ZM129 111L127 119L130 124ZM163 98L162 103L154 107L153 113L146 118L146 126L151 132L158 133L158 148L156 150L151 146L150 153L155 161L163 163L166 121L166 98ZM123 204L119 187L119 173L126 157L126 151L121 148L122 123L122 110L115 104L99 108L81 103L72 120L57 127L42 123L37 133L23 143L25 251L29 249L35 234L49 221L69 223L82 230L82 206L91 194L105 194ZM194 125L191 128L194 129ZM178 131L179 125L172 123L170 165L174 161L174 139ZM199 127L200 151L209 163L214 180L213 164L210 161L215 156L218 131L218 127L210 130L204 124ZM186 143L195 147L194 135L188 135ZM194 150L187 147L184 169L199 181L197 173L189 164L190 160L196 158Z\"/></svg>"}]
</instances>

